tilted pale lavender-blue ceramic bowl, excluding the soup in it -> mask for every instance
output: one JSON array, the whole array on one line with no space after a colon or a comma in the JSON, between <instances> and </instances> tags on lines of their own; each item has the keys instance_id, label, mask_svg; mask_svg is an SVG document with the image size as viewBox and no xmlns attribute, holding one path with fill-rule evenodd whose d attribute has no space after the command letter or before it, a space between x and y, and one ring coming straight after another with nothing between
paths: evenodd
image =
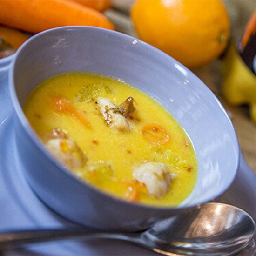
<instances>
[{"instance_id":1,"label":"tilted pale lavender-blue ceramic bowl, excluding the soup in it","mask_svg":"<svg viewBox=\"0 0 256 256\"><path fill-rule=\"evenodd\" d=\"M178 208L143 206L106 195L76 178L45 150L22 106L40 82L70 71L120 78L159 101L182 125L195 147L198 180ZM138 39L96 27L42 32L15 54L9 84L27 182L51 209L73 222L108 230L146 229L218 197L236 176L238 142L221 103L186 67Z\"/></svg>"}]
</instances>

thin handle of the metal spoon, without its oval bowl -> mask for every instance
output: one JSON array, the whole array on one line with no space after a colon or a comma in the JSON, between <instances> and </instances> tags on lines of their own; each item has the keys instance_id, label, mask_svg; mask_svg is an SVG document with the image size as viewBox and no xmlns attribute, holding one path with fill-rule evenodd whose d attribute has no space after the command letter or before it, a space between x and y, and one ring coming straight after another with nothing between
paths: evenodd
<instances>
[{"instance_id":1,"label":"thin handle of the metal spoon, without its oval bowl","mask_svg":"<svg viewBox=\"0 0 256 256\"><path fill-rule=\"evenodd\" d=\"M0 232L0 250L16 248L23 244L40 243L60 240L94 240L94 239L117 239L135 242L135 233L111 233L91 229L27 229Z\"/></svg>"}]
</instances>

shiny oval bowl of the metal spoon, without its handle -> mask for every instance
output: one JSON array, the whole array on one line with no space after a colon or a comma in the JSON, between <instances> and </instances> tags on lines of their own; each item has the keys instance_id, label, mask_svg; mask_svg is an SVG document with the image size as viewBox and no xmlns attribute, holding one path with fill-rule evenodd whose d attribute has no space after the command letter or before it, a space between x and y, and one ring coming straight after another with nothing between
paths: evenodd
<instances>
[{"instance_id":1,"label":"shiny oval bowl of the metal spoon, without its handle","mask_svg":"<svg viewBox=\"0 0 256 256\"><path fill-rule=\"evenodd\" d=\"M206 203L159 222L144 233L163 254L230 255L245 248L255 234L253 218L242 209Z\"/></svg>"}]
</instances>

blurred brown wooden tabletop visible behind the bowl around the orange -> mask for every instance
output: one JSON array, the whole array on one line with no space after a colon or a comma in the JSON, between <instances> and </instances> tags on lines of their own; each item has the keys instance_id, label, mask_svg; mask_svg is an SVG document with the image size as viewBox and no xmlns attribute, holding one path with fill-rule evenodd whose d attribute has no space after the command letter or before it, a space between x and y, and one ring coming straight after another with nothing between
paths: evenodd
<instances>
[{"instance_id":1,"label":"blurred brown wooden tabletop visible behind the bowl around the orange","mask_svg":"<svg viewBox=\"0 0 256 256\"><path fill-rule=\"evenodd\" d=\"M136 37L129 19L129 8L134 0L112 0L113 8L106 15L116 30ZM250 16L256 10L256 0L224 0L231 20L231 40L238 40ZM222 61L216 60L193 72L216 94L227 110L236 130L240 148L249 167L256 173L256 123L249 118L246 106L232 107L222 99Z\"/></svg>"}]
</instances>

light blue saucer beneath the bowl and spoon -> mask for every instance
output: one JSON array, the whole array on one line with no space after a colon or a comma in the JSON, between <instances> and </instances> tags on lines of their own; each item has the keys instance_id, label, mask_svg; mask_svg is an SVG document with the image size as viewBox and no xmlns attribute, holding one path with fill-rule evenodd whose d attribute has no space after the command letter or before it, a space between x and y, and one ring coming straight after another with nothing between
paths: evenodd
<instances>
[{"instance_id":1,"label":"light blue saucer beneath the bowl and spoon","mask_svg":"<svg viewBox=\"0 0 256 256\"><path fill-rule=\"evenodd\" d=\"M13 106L7 71L12 58L0 60L0 231L73 225L42 203L23 177L14 140ZM234 204L256 218L256 176L241 154L240 168L231 187L217 201ZM254 241L241 255L255 253ZM6 255L157 255L123 242L52 242L7 251Z\"/></svg>"}]
</instances>

